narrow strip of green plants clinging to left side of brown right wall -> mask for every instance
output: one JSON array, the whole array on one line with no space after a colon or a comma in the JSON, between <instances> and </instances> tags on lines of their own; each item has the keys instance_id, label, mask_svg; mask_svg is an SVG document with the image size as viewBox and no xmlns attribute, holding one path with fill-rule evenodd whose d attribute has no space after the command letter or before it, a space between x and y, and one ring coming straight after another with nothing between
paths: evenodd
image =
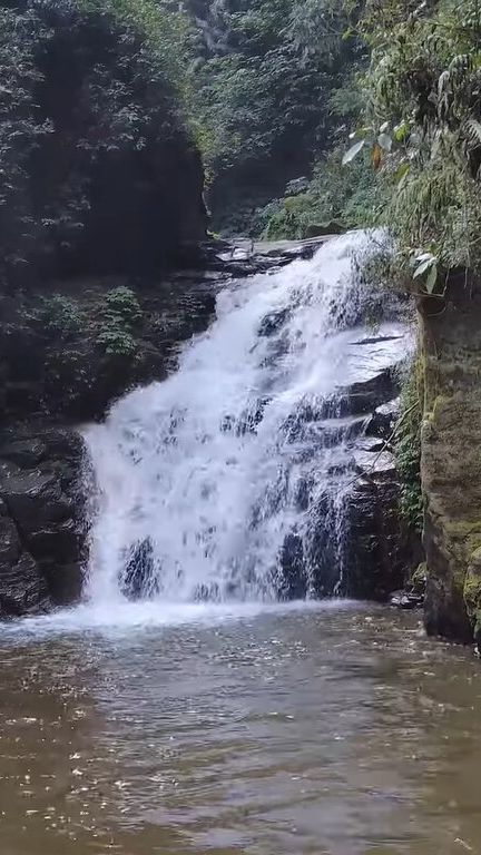
<instances>
[{"instance_id":1,"label":"narrow strip of green plants clinging to left side of brown right wall","mask_svg":"<svg viewBox=\"0 0 481 855\"><path fill-rule=\"evenodd\" d=\"M415 360L404 376L394 451L397 473L401 479L401 513L414 531L421 532L423 525L421 490L422 405L418 373L419 364Z\"/></svg>"}]
</instances>

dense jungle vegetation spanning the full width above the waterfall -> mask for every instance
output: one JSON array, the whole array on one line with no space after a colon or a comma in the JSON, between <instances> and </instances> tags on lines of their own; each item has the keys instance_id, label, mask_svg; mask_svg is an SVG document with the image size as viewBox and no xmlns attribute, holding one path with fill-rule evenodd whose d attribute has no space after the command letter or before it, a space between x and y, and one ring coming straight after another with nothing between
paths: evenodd
<instances>
[{"instance_id":1,"label":"dense jungle vegetation spanning the full width above the waterfall","mask_svg":"<svg viewBox=\"0 0 481 855\"><path fill-rule=\"evenodd\" d=\"M2 264L68 259L102 160L190 140L215 230L389 223L432 289L478 264L480 28L477 0L7 0Z\"/></svg>"}]
</instances>

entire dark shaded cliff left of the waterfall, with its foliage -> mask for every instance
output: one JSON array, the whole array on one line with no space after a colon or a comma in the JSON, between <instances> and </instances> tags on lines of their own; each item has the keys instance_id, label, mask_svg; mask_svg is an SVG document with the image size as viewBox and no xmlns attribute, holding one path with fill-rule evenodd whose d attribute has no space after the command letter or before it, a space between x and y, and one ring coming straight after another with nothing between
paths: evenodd
<instances>
[{"instance_id":1,"label":"entire dark shaded cliff left of the waterfall, with its foliage","mask_svg":"<svg viewBox=\"0 0 481 855\"><path fill-rule=\"evenodd\" d=\"M0 8L0 617L79 596L66 425L164 376L214 305L202 275L168 276L206 235L204 174L168 12L155 41L135 6Z\"/></svg>"}]
</instances>

